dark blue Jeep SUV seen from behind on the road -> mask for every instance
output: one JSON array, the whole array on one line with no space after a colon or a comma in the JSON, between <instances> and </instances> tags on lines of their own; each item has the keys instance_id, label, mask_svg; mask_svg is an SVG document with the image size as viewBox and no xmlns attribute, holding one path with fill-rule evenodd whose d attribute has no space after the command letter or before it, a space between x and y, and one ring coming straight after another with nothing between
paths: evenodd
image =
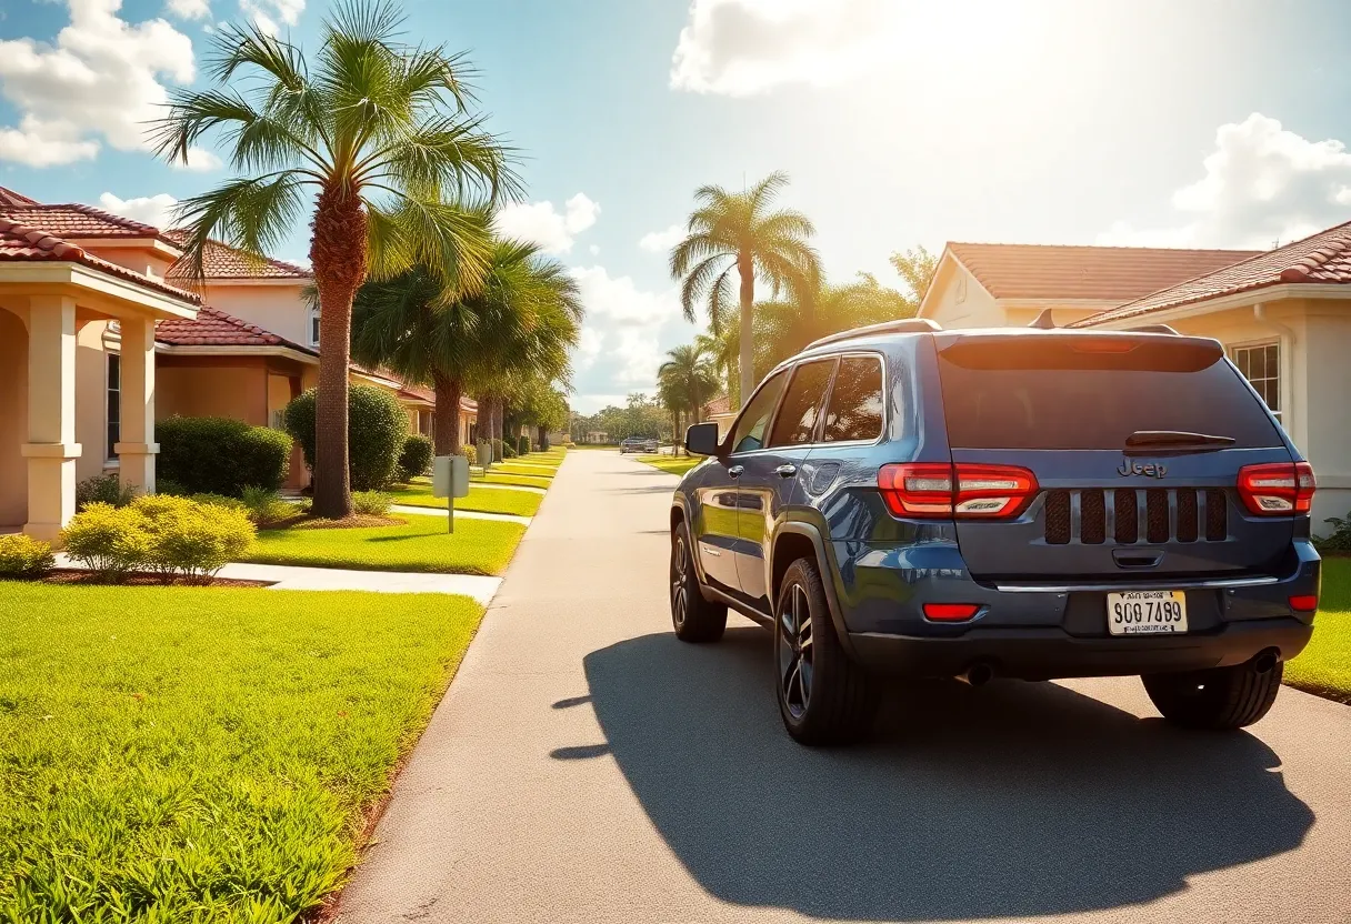
<instances>
[{"instance_id":1,"label":"dark blue Jeep SUV seen from behind on the road","mask_svg":"<svg viewBox=\"0 0 1351 924\"><path fill-rule=\"evenodd\" d=\"M880 674L1139 674L1166 719L1239 728L1313 631L1313 471L1210 339L878 324L686 446L676 635L771 628L802 743L866 734Z\"/></svg>"}]
</instances>

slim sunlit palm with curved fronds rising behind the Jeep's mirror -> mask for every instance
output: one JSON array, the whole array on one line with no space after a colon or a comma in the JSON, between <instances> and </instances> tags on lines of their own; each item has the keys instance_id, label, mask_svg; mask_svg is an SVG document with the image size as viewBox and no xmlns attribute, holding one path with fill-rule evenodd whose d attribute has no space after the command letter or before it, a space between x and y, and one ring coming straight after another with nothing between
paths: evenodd
<instances>
[{"instance_id":1,"label":"slim sunlit palm with curved fronds rising behind the Jeep's mirror","mask_svg":"<svg viewBox=\"0 0 1351 924\"><path fill-rule=\"evenodd\" d=\"M740 400L755 386L751 363L755 280L784 289L809 290L820 276L820 261L807 239L815 234L801 212L771 211L774 196L788 185L775 172L746 192L700 186L689 216L688 236L671 250L671 278L684 280L681 304L694 320L694 304L707 300L708 322L720 334L731 311L732 272L740 284Z\"/></svg>"}]
</instances>

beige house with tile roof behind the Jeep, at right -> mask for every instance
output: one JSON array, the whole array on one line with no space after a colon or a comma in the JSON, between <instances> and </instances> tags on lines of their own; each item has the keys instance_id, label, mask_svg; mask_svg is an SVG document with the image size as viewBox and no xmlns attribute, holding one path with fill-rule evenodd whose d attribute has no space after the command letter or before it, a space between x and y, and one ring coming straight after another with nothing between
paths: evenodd
<instances>
[{"instance_id":1,"label":"beige house with tile roof behind the Jeep, at right","mask_svg":"<svg viewBox=\"0 0 1351 924\"><path fill-rule=\"evenodd\" d=\"M946 328L1167 324L1210 336L1351 511L1351 223L1270 251L948 243L919 315Z\"/></svg>"}]
</instances>

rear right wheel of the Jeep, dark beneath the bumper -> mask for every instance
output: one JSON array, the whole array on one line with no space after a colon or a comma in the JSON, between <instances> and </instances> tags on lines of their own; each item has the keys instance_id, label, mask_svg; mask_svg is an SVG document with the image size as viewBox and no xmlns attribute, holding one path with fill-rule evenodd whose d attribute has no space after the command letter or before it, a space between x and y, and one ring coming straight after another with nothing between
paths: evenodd
<instances>
[{"instance_id":1,"label":"rear right wheel of the Jeep, dark beneath the bumper","mask_svg":"<svg viewBox=\"0 0 1351 924\"><path fill-rule=\"evenodd\" d=\"M1265 716L1281 690L1285 665L1259 670L1250 661L1233 667L1142 677L1144 692L1169 721L1183 728L1232 729Z\"/></svg>"}]
</instances>

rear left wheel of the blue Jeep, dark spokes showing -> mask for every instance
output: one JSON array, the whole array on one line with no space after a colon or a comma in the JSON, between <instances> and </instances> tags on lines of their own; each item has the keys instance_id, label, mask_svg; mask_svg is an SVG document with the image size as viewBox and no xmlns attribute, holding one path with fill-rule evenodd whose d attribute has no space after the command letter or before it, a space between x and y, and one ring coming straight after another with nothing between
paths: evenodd
<instances>
[{"instance_id":1,"label":"rear left wheel of the blue Jeep, dark spokes showing","mask_svg":"<svg viewBox=\"0 0 1351 924\"><path fill-rule=\"evenodd\" d=\"M789 565L774 619L778 712L802 744L846 744L867 735L877 700L835 635L816 562Z\"/></svg>"}]
</instances>

